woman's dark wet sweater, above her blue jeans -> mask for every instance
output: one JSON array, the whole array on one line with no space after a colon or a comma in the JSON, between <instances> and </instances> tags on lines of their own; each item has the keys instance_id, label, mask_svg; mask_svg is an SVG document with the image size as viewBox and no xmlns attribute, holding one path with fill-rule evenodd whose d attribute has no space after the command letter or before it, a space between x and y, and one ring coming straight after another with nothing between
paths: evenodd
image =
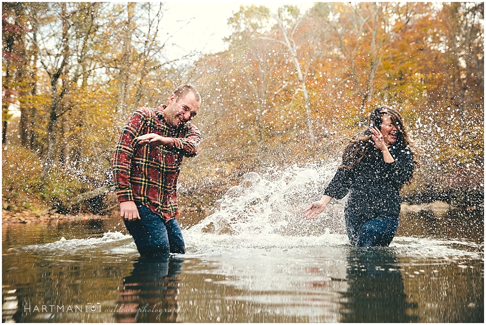
<instances>
[{"instance_id":1,"label":"woman's dark wet sweater, above her blue jeans","mask_svg":"<svg viewBox=\"0 0 486 325\"><path fill-rule=\"evenodd\" d=\"M402 146L390 146L392 163L383 160L382 152L372 148L350 171L339 168L324 195L342 199L349 192L347 215L398 215L401 186L414 172L414 155Z\"/></svg>"}]
</instances>

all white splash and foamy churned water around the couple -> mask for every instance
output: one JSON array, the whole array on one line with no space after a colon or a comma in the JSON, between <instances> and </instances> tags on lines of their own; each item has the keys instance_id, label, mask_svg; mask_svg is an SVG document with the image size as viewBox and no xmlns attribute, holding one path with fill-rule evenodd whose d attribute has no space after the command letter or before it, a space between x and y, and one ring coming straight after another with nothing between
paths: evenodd
<instances>
[{"instance_id":1,"label":"all white splash and foamy churned water around the couple","mask_svg":"<svg viewBox=\"0 0 486 325\"><path fill-rule=\"evenodd\" d=\"M218 255L224 251L231 255L248 249L303 252L312 247L349 247L344 225L346 200L331 201L313 220L304 219L301 213L321 197L337 165L334 161L280 171L269 168L262 175L244 174L242 182L229 188L219 200L215 213L183 230L189 255ZM395 237L390 246L408 257L484 258L481 243L474 242ZM132 237L120 232L104 233L102 238L62 238L53 243L24 246L22 250L60 255L93 252L104 257L138 254Z\"/></svg>"}]
</instances>

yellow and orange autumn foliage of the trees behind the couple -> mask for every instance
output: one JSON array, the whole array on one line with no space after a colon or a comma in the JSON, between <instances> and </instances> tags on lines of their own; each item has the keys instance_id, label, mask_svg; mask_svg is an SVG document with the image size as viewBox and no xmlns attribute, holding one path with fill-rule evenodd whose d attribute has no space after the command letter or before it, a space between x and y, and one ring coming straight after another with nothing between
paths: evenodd
<instances>
[{"instance_id":1,"label":"yellow and orange autumn foliage of the trees behind the couple","mask_svg":"<svg viewBox=\"0 0 486 325\"><path fill-rule=\"evenodd\" d=\"M126 5L115 4L111 11L102 8L106 26L100 26L96 41L87 43L90 56L83 61L83 67L94 72L70 85L59 109L73 105L58 121L59 152L64 148L69 159L82 156L78 167L95 177L97 170L109 168L121 105L127 112L158 106L176 86L191 81L203 97L194 120L203 132L203 143L201 154L188 162L197 176L187 177L239 175L268 162L286 164L335 153L341 149L340 139L363 130L369 112L383 103L399 109L417 141L433 151L428 159L434 164L437 159L437 164L451 170L467 164L479 168L484 131L468 120L481 121L484 115L484 50L479 46L484 44L484 28L468 22L460 10L467 6L459 3L441 10L427 3L316 3L292 35L295 56L279 43L282 31L290 33L287 27L300 17L295 8L281 11L286 19L281 29L270 23L268 8L241 6L228 20L233 28L228 50L172 68L157 59L163 56L161 48L156 48L158 56L143 52L143 37L123 63L121 44L131 36L121 28L126 22L119 14ZM44 11L39 22L46 30L55 15ZM470 58L464 49L470 49ZM31 54L46 59L42 53ZM309 140L305 98L293 59L306 77L319 149ZM97 69L101 66L103 70ZM76 67L69 66L72 69L59 78L59 86L69 86ZM31 76L24 73L17 80L16 87L26 93L19 103L36 114L32 131L42 151L52 99L50 77L33 62L26 72ZM444 107L451 107L458 123L449 120L451 114Z\"/></svg>"}]
</instances>

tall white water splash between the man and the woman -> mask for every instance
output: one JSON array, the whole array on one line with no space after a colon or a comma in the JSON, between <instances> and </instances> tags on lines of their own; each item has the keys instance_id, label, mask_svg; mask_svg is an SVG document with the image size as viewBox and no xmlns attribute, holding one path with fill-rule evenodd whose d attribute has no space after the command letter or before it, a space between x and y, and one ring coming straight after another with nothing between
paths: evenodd
<instances>
[{"instance_id":1,"label":"tall white water splash between the man and the woman","mask_svg":"<svg viewBox=\"0 0 486 325\"><path fill-rule=\"evenodd\" d=\"M313 220L305 220L301 213L320 199L337 165L335 161L244 174L242 182L219 200L217 212L184 231L186 242L190 247L201 247L207 240L234 247L347 244L343 200Z\"/></svg>"}]
</instances>

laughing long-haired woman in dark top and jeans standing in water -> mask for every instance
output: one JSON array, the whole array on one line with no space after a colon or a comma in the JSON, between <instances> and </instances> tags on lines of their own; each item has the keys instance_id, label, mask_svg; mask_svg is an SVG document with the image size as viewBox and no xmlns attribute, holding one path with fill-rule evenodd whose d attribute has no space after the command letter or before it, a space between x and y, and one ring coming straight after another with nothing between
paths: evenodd
<instances>
[{"instance_id":1,"label":"laughing long-haired woman in dark top and jeans standing in water","mask_svg":"<svg viewBox=\"0 0 486 325\"><path fill-rule=\"evenodd\" d=\"M410 140L400 114L389 106L371 112L369 129L353 137L320 201L303 211L313 219L332 198L349 192L345 207L347 236L359 247L388 246L398 228L399 189L415 168Z\"/></svg>"}]
</instances>

